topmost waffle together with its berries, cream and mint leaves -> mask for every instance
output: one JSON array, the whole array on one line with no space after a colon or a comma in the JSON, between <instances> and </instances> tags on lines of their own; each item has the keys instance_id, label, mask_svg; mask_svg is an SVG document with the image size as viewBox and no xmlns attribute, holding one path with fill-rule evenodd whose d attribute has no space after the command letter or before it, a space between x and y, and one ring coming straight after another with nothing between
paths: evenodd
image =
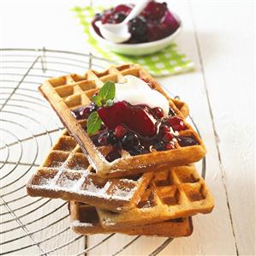
<instances>
[{"instance_id":1,"label":"topmost waffle together with its berries, cream and mint leaves","mask_svg":"<svg viewBox=\"0 0 256 256\"><path fill-rule=\"evenodd\" d=\"M175 101L137 64L51 78L39 91L104 178L191 164L205 156L203 141Z\"/></svg>"}]
</instances>

